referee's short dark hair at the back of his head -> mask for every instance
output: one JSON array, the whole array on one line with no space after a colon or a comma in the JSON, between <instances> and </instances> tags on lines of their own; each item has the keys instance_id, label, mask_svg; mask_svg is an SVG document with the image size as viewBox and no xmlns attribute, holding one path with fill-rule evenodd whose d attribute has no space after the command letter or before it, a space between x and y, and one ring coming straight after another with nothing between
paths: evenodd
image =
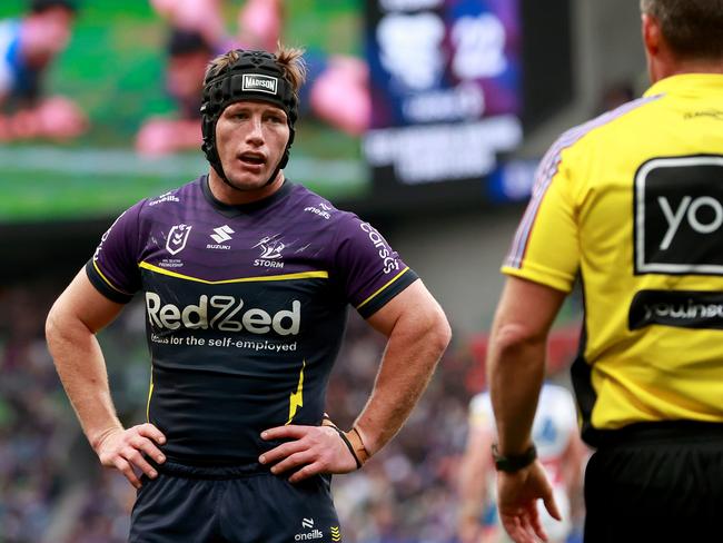
<instances>
[{"instance_id":1,"label":"referee's short dark hair at the back of his head","mask_svg":"<svg viewBox=\"0 0 723 543\"><path fill-rule=\"evenodd\" d=\"M723 58L723 0L641 0L681 60Z\"/></svg>"}]
</instances>

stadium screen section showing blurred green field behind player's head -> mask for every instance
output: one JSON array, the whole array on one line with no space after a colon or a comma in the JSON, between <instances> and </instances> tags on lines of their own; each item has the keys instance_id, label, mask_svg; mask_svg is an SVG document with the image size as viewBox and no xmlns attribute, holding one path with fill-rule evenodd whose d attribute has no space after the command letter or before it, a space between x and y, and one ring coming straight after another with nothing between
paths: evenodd
<instances>
[{"instance_id":1,"label":"stadium screen section showing blurred green field behind player's head","mask_svg":"<svg viewBox=\"0 0 723 543\"><path fill-rule=\"evenodd\" d=\"M0 2L0 96L3 75L7 83L7 59L17 53L18 46L12 45L17 24L29 3ZM189 52L195 42L188 33L171 32L175 19L155 9L153 4L157 8L169 2L77 3L70 41L48 66L39 95L42 99L61 97L61 101L75 105L87 126L72 137L33 135L32 122L16 117L22 102L0 98L0 224L112 217L138 199L160 195L208 169L197 142L176 152L164 148L169 136L182 135L180 128L164 125L164 119L177 119L185 108L197 107L174 98L171 87L182 92L184 86L190 85L195 65L181 61L180 73L176 73L179 70L171 63L170 51ZM207 3L221 7L216 20L209 12L181 13L179 18L187 16L194 24L194 17L207 18L202 22L207 29L220 19L225 40L214 45L217 50L249 43L242 36L245 24L260 26L265 32L266 24L273 30L274 21L267 13L244 12L250 2ZM263 8L274 2L255 3ZM358 77L359 62L365 68L360 3L286 1L278 16L281 39L305 47L309 66L309 82L301 96L304 117L287 176L329 198L363 198L369 190L359 145L359 130L365 127L359 127L358 120L355 125L355 119L335 117L328 106L325 109L329 100L338 100L329 88L367 92L364 78ZM3 119L10 118L17 128L12 134L2 130Z\"/></svg>"}]
</instances>

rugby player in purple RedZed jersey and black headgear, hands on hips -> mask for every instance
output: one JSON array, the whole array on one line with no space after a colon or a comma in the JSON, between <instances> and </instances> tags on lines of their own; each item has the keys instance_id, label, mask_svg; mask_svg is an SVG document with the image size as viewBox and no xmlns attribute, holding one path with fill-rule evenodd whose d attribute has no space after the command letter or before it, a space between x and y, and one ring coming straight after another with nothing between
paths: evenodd
<instances>
[{"instance_id":1,"label":"rugby player in purple RedZed jersey and black headgear, hands on hips","mask_svg":"<svg viewBox=\"0 0 723 543\"><path fill-rule=\"evenodd\" d=\"M285 178L301 52L214 59L208 175L125 211L48 317L92 448L138 488L131 542L340 541L329 475L395 435L449 340L439 305L372 225ZM96 333L139 290L148 422L125 428ZM323 421L349 304L388 343L344 432Z\"/></svg>"}]
</instances>

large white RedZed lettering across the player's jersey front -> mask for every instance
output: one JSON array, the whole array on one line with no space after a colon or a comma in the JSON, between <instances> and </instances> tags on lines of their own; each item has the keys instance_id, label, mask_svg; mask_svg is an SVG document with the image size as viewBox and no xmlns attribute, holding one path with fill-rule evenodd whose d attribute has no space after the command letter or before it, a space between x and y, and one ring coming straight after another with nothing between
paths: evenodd
<instances>
[{"instance_id":1,"label":"large white RedZed lettering across the player's jersey front","mask_svg":"<svg viewBox=\"0 0 723 543\"><path fill-rule=\"evenodd\" d=\"M244 300L235 296L198 297L198 303L179 307L164 304L156 293L146 293L146 310L151 326L159 329L219 329L222 332L246 330L251 334L268 334L274 330L280 336L297 335L301 325L301 303L291 302L290 309L274 315L258 308L245 307Z\"/></svg>"}]
</instances>

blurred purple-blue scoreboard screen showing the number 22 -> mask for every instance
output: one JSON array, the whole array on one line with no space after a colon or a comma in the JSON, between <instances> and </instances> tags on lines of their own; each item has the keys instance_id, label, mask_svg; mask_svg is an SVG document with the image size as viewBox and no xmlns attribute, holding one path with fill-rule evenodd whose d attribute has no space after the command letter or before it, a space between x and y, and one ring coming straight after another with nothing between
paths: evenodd
<instances>
[{"instance_id":1,"label":"blurred purple-blue scoreboard screen showing the number 22","mask_svg":"<svg viewBox=\"0 0 723 543\"><path fill-rule=\"evenodd\" d=\"M368 24L377 180L481 178L521 144L517 0L382 0Z\"/></svg>"}]
</instances>

